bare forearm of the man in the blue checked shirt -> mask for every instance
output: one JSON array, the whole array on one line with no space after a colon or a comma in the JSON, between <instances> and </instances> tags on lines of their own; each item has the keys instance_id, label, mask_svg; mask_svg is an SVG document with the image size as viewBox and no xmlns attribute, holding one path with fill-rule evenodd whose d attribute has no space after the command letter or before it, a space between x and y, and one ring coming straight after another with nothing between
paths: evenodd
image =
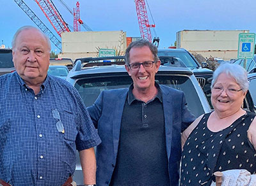
<instances>
[{"instance_id":1,"label":"bare forearm of the man in the blue checked shirt","mask_svg":"<svg viewBox=\"0 0 256 186\"><path fill-rule=\"evenodd\" d=\"M96 159L94 149L88 148L79 152L81 166L84 175L84 184L90 185L96 183Z\"/></svg>"}]
</instances>

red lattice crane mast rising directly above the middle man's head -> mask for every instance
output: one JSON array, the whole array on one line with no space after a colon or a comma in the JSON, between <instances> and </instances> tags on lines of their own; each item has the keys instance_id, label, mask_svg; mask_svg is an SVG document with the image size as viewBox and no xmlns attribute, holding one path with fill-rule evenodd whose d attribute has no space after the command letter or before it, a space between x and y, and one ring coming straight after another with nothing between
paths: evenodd
<instances>
[{"instance_id":1,"label":"red lattice crane mast rising directly above the middle man's head","mask_svg":"<svg viewBox=\"0 0 256 186\"><path fill-rule=\"evenodd\" d=\"M140 26L140 35L141 38L147 39L150 43L152 42L152 35L150 27L156 27L155 24L149 24L147 8L144 0L135 0L136 4L136 13L138 17L138 22Z\"/></svg>"}]
</instances>

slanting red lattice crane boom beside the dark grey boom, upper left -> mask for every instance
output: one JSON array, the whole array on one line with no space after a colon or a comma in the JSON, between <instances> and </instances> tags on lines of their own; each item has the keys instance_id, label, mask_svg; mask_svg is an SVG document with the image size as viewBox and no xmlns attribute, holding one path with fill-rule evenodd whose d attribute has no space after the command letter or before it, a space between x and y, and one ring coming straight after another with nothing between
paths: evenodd
<instances>
[{"instance_id":1,"label":"slanting red lattice crane boom beside the dark grey boom, upper left","mask_svg":"<svg viewBox=\"0 0 256 186\"><path fill-rule=\"evenodd\" d=\"M70 32L68 25L63 20L51 0L35 0L35 2L43 11L45 17L49 20L52 27L55 29L59 36L61 36L62 32Z\"/></svg>"}]
</instances>

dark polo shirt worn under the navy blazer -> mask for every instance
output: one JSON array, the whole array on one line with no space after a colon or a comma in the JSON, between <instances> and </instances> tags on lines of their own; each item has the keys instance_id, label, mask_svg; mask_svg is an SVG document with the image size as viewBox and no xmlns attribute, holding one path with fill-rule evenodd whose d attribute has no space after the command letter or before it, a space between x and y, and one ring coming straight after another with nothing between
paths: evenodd
<instances>
[{"instance_id":1,"label":"dark polo shirt worn under the navy blazer","mask_svg":"<svg viewBox=\"0 0 256 186\"><path fill-rule=\"evenodd\" d=\"M110 185L170 185L159 85L154 99L144 103L130 86L120 129L116 166Z\"/></svg>"}]
</instances>

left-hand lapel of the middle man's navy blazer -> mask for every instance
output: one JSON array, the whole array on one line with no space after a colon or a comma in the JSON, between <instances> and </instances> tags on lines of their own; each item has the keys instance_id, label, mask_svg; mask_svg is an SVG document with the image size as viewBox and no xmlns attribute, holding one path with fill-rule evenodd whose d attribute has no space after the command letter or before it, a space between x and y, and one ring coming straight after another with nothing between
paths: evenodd
<instances>
[{"instance_id":1,"label":"left-hand lapel of the middle man's navy blazer","mask_svg":"<svg viewBox=\"0 0 256 186\"><path fill-rule=\"evenodd\" d=\"M125 89L124 91L120 91L118 97L116 97L116 103L113 107L113 146L114 146L114 155L116 159L118 144L120 138L120 127L122 122L122 115L124 111L124 104L127 98L127 93L129 89Z\"/></svg>"}]
</instances>

